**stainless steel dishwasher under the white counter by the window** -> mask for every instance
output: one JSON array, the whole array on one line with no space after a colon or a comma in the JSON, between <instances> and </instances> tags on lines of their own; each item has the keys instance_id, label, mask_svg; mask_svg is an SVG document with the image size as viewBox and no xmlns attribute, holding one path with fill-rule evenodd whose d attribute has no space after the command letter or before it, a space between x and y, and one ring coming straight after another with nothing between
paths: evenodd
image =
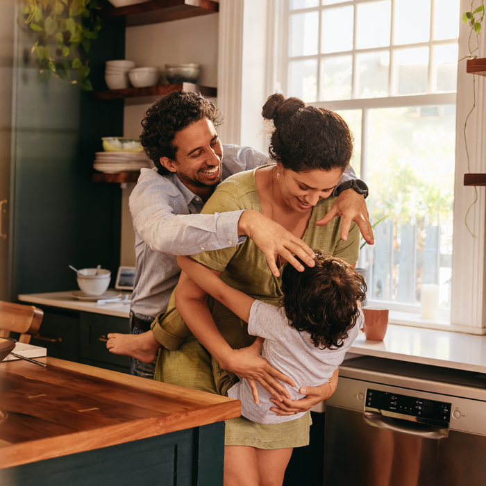
<instances>
[{"instance_id":1,"label":"stainless steel dishwasher under the white counter by the window","mask_svg":"<svg viewBox=\"0 0 486 486\"><path fill-rule=\"evenodd\" d=\"M324 486L485 486L486 374L362 356L326 402Z\"/></svg>"}]
</instances>

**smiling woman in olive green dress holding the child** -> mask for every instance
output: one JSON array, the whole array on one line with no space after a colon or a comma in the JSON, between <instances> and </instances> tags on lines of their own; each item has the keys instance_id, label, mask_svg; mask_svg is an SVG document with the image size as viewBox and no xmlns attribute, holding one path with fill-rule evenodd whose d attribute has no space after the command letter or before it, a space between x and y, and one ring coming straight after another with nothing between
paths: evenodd
<instances>
[{"instance_id":1,"label":"smiling woman in olive green dress holding the child","mask_svg":"<svg viewBox=\"0 0 486 486\"><path fill-rule=\"evenodd\" d=\"M299 99L284 99L279 94L269 97L262 115L274 121L269 151L276 163L228 178L219 185L203 212L258 210L301 237L311 248L321 248L355 264L359 252L355 224L345 242L340 239L340 219L324 228L315 225L333 205L335 198L330 195L349 164L353 144L348 126L329 110L307 107ZM201 253L193 258L237 290L278 305L282 295L280 279L271 274L265 255L251 240L236 248ZM278 260L280 267L284 263ZM250 379L268 378L258 358L260 342L240 349L254 340L246 333L244 322L219 303L208 304L205 292L182 274L178 302L183 302L185 296L199 299L196 312L185 315L186 324L197 340L187 338L177 351L164 349L159 355L156 379L224 394L237 380L234 374ZM154 335L162 336L160 341L163 342L164 333L171 338L187 335L178 328L178 319L173 319L176 315L174 311L167 312L162 329L158 325L153 327ZM228 380L228 375L232 379ZM285 393L271 378L267 381L274 384L274 396L278 396L276 390ZM279 414L308 410L328 395L328 386L323 384L321 388L312 399L301 403L280 397L279 407L272 410ZM301 392L305 394L303 389ZM283 424L255 424L243 417L228 421L225 484L281 484L283 474L278 477L276 474L285 471L293 447L308 444L309 426L310 414ZM268 449L283 450L278 464L265 461ZM249 477L253 469L258 474Z\"/></svg>"}]
</instances>

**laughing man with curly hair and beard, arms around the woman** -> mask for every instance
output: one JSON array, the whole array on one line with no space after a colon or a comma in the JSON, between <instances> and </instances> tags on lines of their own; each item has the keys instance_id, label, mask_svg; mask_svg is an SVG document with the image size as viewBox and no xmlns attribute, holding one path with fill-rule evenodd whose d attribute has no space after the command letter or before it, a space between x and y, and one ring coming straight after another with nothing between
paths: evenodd
<instances>
[{"instance_id":1,"label":"laughing man with curly hair and beard, arms around the woman","mask_svg":"<svg viewBox=\"0 0 486 486\"><path fill-rule=\"evenodd\" d=\"M302 240L260 212L199 214L221 180L269 162L265 154L247 147L225 146L223 151L218 124L219 111L212 103L199 94L185 92L174 92L157 101L142 121L142 145L156 169L142 169L130 196L136 253L132 334L150 330L153 319L167 309L181 272L176 255L236 246L248 236L265 253L275 276L278 254L297 269L303 267L292 253L307 265L314 265L312 250ZM355 174L350 167L340 183L351 179ZM366 196L367 190L361 190L361 194L341 192L319 224L342 215L344 240L351 221L356 221L364 239L372 244L363 192ZM340 187L336 187L334 194L339 193ZM152 378L153 370L153 363L132 358L132 374Z\"/></svg>"}]
</instances>

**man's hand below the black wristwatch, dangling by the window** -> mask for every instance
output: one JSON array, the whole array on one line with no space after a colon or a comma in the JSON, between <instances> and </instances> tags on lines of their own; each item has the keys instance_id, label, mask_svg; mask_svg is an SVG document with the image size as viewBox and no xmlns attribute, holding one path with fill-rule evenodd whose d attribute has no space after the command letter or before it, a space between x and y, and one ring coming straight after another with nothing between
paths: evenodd
<instances>
[{"instance_id":1,"label":"man's hand below the black wristwatch, dangling by the window","mask_svg":"<svg viewBox=\"0 0 486 486\"><path fill-rule=\"evenodd\" d=\"M361 194L352 189L346 189L337 196L328 214L320 221L317 221L316 224L317 226L326 226L337 216L342 216L341 240L346 241L348 239L351 223L356 221L367 244L374 244L375 239L373 228L371 228L371 223L369 222L368 208Z\"/></svg>"}]
</instances>

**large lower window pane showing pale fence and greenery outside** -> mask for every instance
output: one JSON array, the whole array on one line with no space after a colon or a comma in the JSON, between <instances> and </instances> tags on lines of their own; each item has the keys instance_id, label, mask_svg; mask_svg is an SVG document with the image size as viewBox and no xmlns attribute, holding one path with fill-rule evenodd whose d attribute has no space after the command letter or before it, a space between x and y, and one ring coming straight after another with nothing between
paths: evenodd
<instances>
[{"instance_id":1,"label":"large lower window pane showing pale fence and greenery outside","mask_svg":"<svg viewBox=\"0 0 486 486\"><path fill-rule=\"evenodd\" d=\"M440 285L449 307L454 197L455 106L369 110L371 221L369 297L419 303Z\"/></svg>"}]
</instances>

